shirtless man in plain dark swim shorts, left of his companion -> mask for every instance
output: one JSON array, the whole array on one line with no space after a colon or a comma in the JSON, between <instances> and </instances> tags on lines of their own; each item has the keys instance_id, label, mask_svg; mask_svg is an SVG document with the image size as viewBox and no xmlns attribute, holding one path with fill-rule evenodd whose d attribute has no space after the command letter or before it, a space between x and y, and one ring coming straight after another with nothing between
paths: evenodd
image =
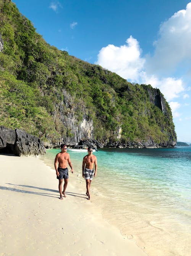
<instances>
[{"instance_id":1,"label":"shirtless man in plain dark swim shorts, left of his companion","mask_svg":"<svg viewBox=\"0 0 191 256\"><path fill-rule=\"evenodd\" d=\"M64 145L64 144L61 144L60 148L61 148L61 152L58 153L55 157L54 167L55 167L55 170L56 170L56 173L57 173L57 179L59 180L58 189L59 189L59 192L60 192L60 199L63 200L62 195L64 197L66 197L65 191L66 191L66 187L68 185L67 162L70 165L71 173L73 173L73 168L72 168L71 161L70 161L70 155L68 153L66 153L67 146ZM64 187L63 187L63 192L62 192L63 178L64 178Z\"/></svg>"}]
</instances>

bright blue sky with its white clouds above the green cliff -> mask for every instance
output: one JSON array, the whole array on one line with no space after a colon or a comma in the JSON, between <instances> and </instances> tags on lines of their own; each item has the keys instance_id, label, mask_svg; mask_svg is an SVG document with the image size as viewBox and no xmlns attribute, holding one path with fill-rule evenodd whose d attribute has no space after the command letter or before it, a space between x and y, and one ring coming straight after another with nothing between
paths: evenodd
<instances>
[{"instance_id":1,"label":"bright blue sky with its white clouds above the green cliff","mask_svg":"<svg viewBox=\"0 0 191 256\"><path fill-rule=\"evenodd\" d=\"M50 45L159 88L178 141L191 142L191 2L13 0Z\"/></svg>"}]
</instances>

